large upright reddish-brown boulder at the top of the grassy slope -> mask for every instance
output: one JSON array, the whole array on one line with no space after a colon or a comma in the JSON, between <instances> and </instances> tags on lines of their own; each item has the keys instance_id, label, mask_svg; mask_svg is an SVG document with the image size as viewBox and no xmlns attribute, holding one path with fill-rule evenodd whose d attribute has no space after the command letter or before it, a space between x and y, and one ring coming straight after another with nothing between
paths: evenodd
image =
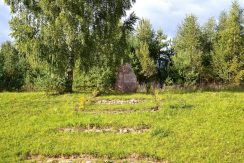
<instances>
[{"instance_id":1,"label":"large upright reddish-brown boulder at the top of the grassy slope","mask_svg":"<svg viewBox=\"0 0 244 163\"><path fill-rule=\"evenodd\" d=\"M137 87L137 78L131 66L128 63L122 65L117 74L115 89L122 93L135 93Z\"/></svg>"}]
</instances>

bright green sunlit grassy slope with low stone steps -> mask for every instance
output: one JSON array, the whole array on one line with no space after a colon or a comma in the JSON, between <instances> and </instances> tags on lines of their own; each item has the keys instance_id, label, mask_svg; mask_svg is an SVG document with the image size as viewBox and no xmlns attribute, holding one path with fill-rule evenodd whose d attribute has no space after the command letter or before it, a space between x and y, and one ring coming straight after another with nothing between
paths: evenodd
<instances>
[{"instance_id":1,"label":"bright green sunlit grassy slope with low stone steps","mask_svg":"<svg viewBox=\"0 0 244 163\"><path fill-rule=\"evenodd\" d=\"M0 162L244 161L243 92L164 92L157 110L151 95L102 96L81 109L83 96L1 93ZM97 104L108 99L141 101Z\"/></svg>"}]
</instances>

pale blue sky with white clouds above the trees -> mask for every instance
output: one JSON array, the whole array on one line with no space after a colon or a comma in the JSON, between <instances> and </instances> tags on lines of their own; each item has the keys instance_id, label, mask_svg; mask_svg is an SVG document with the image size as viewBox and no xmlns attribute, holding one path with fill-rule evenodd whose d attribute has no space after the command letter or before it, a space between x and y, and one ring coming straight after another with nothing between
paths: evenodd
<instances>
[{"instance_id":1,"label":"pale blue sky with white clouds above the trees","mask_svg":"<svg viewBox=\"0 0 244 163\"><path fill-rule=\"evenodd\" d=\"M8 21L11 19L9 7L0 0L0 43L11 40ZM155 30L161 28L169 37L174 37L177 27L186 15L194 14L202 25L210 17L218 18L223 10L228 10L232 0L137 0L130 12L140 18L150 19ZM239 0L244 7L244 0Z\"/></svg>"}]
</instances>

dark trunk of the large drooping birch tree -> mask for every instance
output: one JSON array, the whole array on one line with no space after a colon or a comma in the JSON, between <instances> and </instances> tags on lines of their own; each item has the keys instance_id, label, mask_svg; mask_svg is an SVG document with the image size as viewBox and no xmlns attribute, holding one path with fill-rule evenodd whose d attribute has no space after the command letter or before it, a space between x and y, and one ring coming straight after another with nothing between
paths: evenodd
<instances>
[{"instance_id":1,"label":"dark trunk of the large drooping birch tree","mask_svg":"<svg viewBox=\"0 0 244 163\"><path fill-rule=\"evenodd\" d=\"M72 93L73 92L73 75L74 75L74 66L75 59L74 55L71 52L68 58L68 64L65 74L65 90L64 93Z\"/></svg>"}]
</instances>

